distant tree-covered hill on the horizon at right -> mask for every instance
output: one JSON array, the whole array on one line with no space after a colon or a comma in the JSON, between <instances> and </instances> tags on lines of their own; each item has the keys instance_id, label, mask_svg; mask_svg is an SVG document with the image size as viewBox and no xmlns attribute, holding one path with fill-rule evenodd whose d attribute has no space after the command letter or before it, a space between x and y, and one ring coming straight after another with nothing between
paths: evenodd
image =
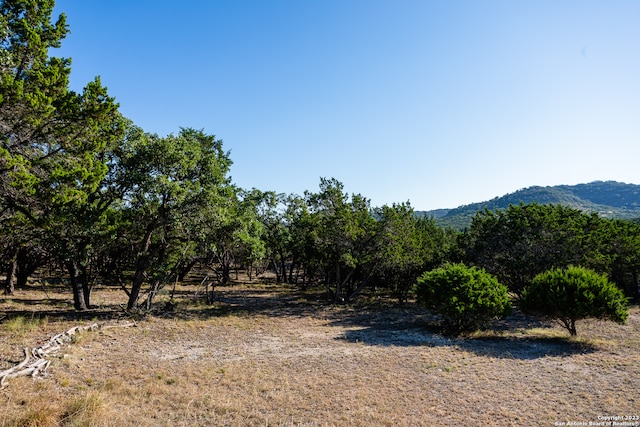
<instances>
[{"instance_id":1,"label":"distant tree-covered hill on the horizon at right","mask_svg":"<svg viewBox=\"0 0 640 427\"><path fill-rule=\"evenodd\" d=\"M595 181L588 184L529 187L514 193L472 203L455 209L419 211L417 215L433 217L442 227L463 230L471 219L484 209L507 209L520 203L559 204L585 212L597 212L605 218L640 218L640 185L616 181Z\"/></svg>"}]
</instances>

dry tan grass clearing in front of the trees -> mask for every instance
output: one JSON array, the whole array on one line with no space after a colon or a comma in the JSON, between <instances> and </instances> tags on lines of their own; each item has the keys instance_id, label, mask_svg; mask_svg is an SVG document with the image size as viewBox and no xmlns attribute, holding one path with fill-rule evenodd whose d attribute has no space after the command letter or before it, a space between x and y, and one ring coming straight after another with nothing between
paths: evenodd
<instances>
[{"instance_id":1,"label":"dry tan grass clearing in front of the trees","mask_svg":"<svg viewBox=\"0 0 640 427\"><path fill-rule=\"evenodd\" d=\"M241 286L136 328L87 332L45 378L0 392L0 426L554 425L640 415L640 310L580 336L514 316L465 339L412 305L335 307ZM0 299L0 370L71 326L118 317L120 290L78 319L63 290ZM0 315L1 316L1 315ZM16 320L21 318L22 320ZM35 325L35 326L34 326Z\"/></svg>"}]
</instances>

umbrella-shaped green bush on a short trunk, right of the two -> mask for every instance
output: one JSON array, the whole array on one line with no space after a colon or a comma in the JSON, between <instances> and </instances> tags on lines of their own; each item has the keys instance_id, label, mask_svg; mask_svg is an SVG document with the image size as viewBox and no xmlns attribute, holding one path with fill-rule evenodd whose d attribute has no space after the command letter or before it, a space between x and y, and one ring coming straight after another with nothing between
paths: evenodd
<instances>
[{"instance_id":1,"label":"umbrella-shaped green bush on a short trunk, right of the two","mask_svg":"<svg viewBox=\"0 0 640 427\"><path fill-rule=\"evenodd\" d=\"M577 320L608 319L624 324L629 315L623 292L605 275L583 267L538 274L525 287L520 305L558 321L571 335L577 335Z\"/></svg>"}]
</instances>

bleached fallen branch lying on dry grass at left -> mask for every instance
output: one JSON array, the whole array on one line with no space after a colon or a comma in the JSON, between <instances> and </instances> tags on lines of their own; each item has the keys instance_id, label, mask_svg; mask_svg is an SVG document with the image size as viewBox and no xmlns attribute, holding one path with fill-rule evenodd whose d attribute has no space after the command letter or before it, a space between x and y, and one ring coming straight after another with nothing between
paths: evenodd
<instances>
[{"instance_id":1,"label":"bleached fallen branch lying on dry grass at left","mask_svg":"<svg viewBox=\"0 0 640 427\"><path fill-rule=\"evenodd\" d=\"M57 352L65 344L72 343L74 336L79 332L97 331L100 329L124 328L135 326L134 322L127 322L119 325L106 325L94 323L89 326L74 326L66 332L53 336L49 341L33 349L24 348L24 360L13 368L0 371L0 389L4 388L7 380L20 376L31 375L36 377L43 375L51 361L48 359L52 354Z\"/></svg>"}]
</instances>

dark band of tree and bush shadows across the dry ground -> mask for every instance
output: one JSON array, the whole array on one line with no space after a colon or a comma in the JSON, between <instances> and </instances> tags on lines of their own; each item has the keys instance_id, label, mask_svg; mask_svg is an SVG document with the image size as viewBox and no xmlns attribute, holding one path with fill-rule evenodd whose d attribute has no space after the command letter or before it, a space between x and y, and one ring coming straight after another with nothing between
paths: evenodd
<instances>
[{"instance_id":1,"label":"dark band of tree and bush shadows across the dry ground","mask_svg":"<svg viewBox=\"0 0 640 427\"><path fill-rule=\"evenodd\" d=\"M216 290L213 304L202 299L181 295L171 304L158 301L146 316L176 319L207 319L220 316L269 316L269 317L313 317L325 319L329 325L340 327L345 332L338 338L347 342L371 346L395 347L452 347L477 355L531 360L547 356L568 357L575 354L595 352L598 349L588 343L565 337L532 336L526 331L532 328L546 329L551 323L522 313L514 312L502 321L493 322L486 335L470 337L447 337L438 333L438 318L425 312L416 304L397 305L390 302L362 303L353 305L330 304L321 290L303 292L298 288L261 286L255 288L225 287ZM120 320L131 317L119 305L96 307L87 311L75 311L69 301L54 299L50 308L36 310L36 303L18 300L26 306L20 310L7 310L0 316L0 324L22 316L66 321L75 320ZM39 300L42 305L46 300Z\"/></svg>"}]
</instances>

